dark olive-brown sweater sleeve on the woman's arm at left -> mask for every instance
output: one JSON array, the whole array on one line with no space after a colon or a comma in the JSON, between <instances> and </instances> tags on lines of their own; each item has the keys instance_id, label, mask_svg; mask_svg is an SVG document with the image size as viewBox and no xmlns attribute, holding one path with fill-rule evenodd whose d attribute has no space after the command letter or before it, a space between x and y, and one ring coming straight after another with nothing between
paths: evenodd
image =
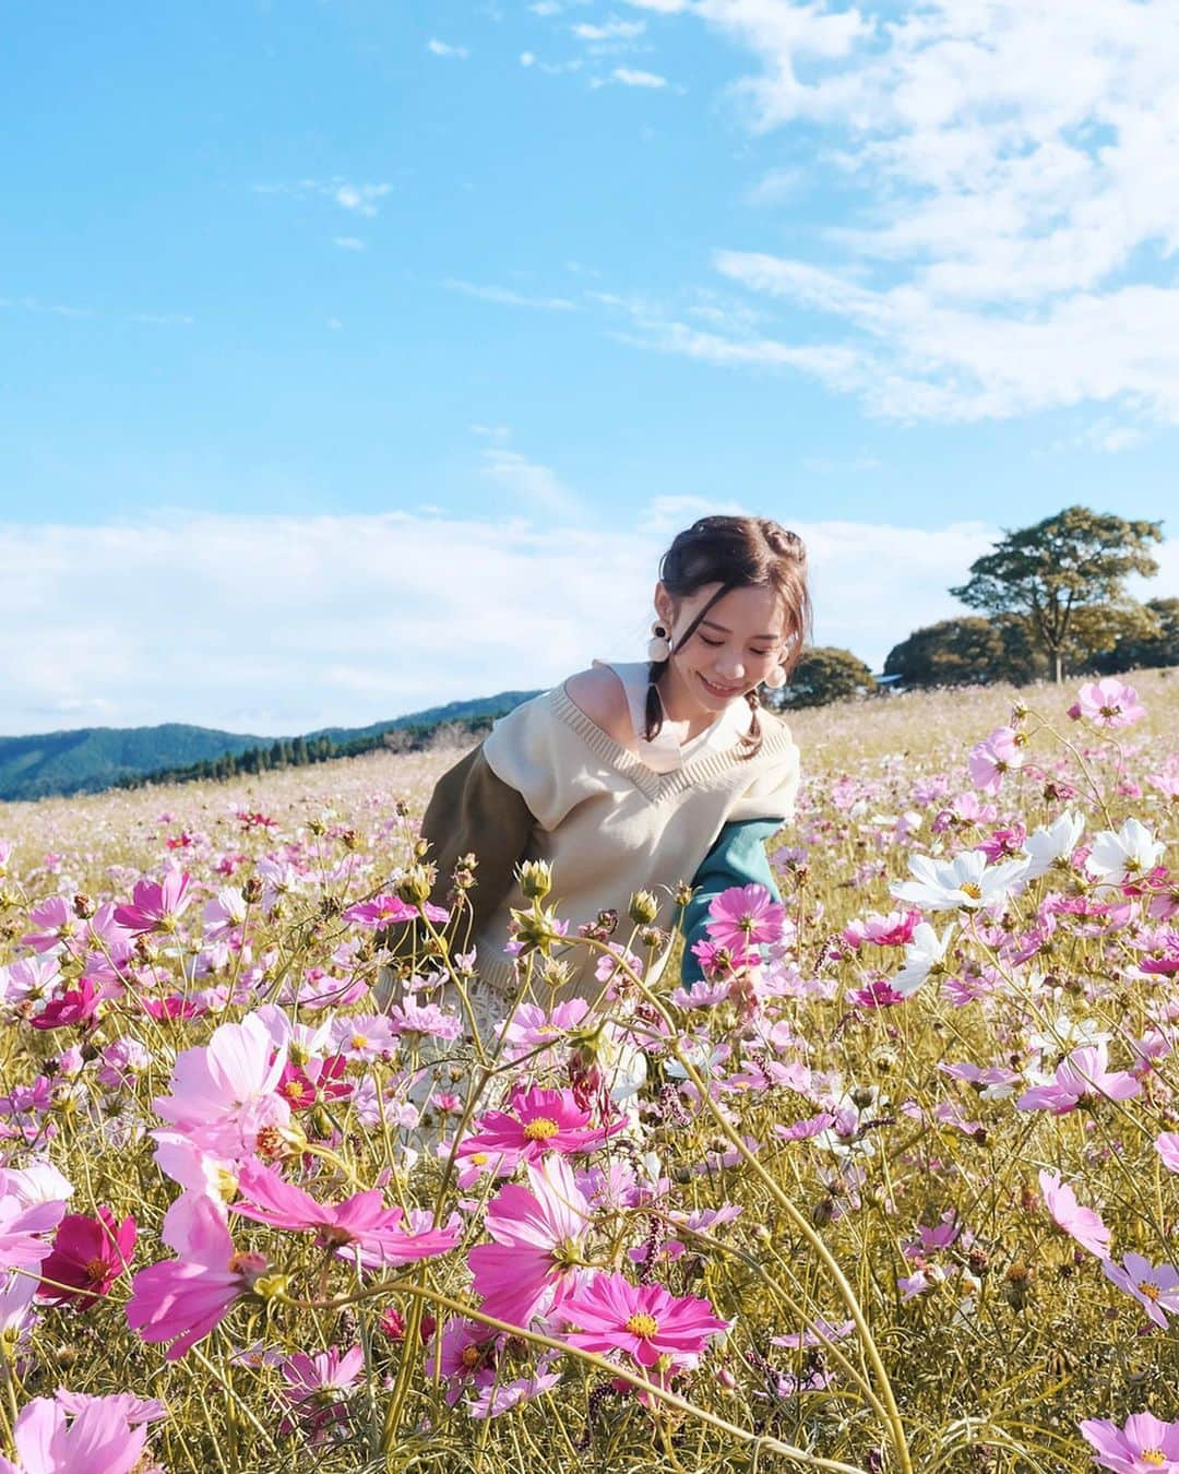
<instances>
[{"instance_id":1,"label":"dark olive-brown sweater sleeve on the woman's arm at left","mask_svg":"<svg viewBox=\"0 0 1179 1474\"><path fill-rule=\"evenodd\" d=\"M447 905L455 862L460 855L473 852L479 868L475 871L476 884L469 892L472 937L479 935L511 887L511 873L528 849L533 824L523 796L492 772L482 744L435 784L421 820L421 837L430 843L426 859L438 867L430 901Z\"/></svg>"}]
</instances>

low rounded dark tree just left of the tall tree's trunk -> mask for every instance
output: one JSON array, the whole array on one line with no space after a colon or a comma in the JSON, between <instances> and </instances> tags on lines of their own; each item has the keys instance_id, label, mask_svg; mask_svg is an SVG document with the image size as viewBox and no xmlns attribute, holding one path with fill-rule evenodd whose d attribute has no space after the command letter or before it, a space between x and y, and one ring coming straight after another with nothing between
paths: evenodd
<instances>
[{"instance_id":1,"label":"low rounded dark tree just left of the tall tree's trunk","mask_svg":"<svg viewBox=\"0 0 1179 1474\"><path fill-rule=\"evenodd\" d=\"M1023 685L1045 671L1027 621L1018 615L942 619L914 629L893 646L884 662L884 675L899 677L908 687L986 685L990 681Z\"/></svg>"}]
</instances>

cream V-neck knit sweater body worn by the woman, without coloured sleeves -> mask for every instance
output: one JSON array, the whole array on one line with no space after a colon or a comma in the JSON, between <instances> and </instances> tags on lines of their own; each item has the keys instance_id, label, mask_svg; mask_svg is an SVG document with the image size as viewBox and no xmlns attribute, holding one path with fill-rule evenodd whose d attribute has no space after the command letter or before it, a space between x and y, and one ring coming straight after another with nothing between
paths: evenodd
<instances>
[{"instance_id":1,"label":"cream V-neck knit sweater body worn by the woman, without coloured sleeves","mask_svg":"<svg viewBox=\"0 0 1179 1474\"><path fill-rule=\"evenodd\" d=\"M618 911L613 940L632 930L626 911L635 890L651 890L659 902L654 924L671 933L675 887L691 883L722 827L735 820L786 821L794 812L799 750L786 724L759 712L762 746L746 756L738 741L696 752L672 772L656 772L603 731L569 697L564 685L544 691L507 716L483 738L482 758L503 783L528 805L535 824L522 859L553 867L557 915L578 926L598 911ZM713 731L713 728L709 728ZM513 879L488 923L475 937L477 968L498 993L516 982L513 960L504 957L511 909L526 909ZM671 939L656 957L662 973ZM575 943L557 943L553 955L570 968L556 995L595 998L600 954Z\"/></svg>"}]
</instances>

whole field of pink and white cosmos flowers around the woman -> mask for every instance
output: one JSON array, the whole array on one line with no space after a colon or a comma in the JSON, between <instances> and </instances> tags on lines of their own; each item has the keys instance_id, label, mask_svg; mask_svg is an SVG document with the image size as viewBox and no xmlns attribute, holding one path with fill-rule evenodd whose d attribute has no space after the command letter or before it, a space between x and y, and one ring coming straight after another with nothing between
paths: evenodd
<instances>
[{"instance_id":1,"label":"whole field of pink and white cosmos flowers around the woman","mask_svg":"<svg viewBox=\"0 0 1179 1474\"><path fill-rule=\"evenodd\" d=\"M475 1039L457 752L0 805L0 1474L1179 1471L1179 680L1126 681L797 713L784 907L648 985L643 895L536 871Z\"/></svg>"}]
</instances>

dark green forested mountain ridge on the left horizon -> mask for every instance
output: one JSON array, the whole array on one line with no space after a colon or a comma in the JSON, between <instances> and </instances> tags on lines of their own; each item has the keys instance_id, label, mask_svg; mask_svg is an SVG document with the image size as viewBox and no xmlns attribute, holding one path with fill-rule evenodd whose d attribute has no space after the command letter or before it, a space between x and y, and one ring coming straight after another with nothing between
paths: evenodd
<instances>
[{"instance_id":1,"label":"dark green forested mountain ridge on the left horizon","mask_svg":"<svg viewBox=\"0 0 1179 1474\"><path fill-rule=\"evenodd\" d=\"M162 727L83 727L32 737L0 737L0 800L43 799L52 793L97 793L152 778L228 777L237 771L320 762L389 746L385 733L405 731L421 746L442 725L476 731L536 691L501 691L430 706L370 727L324 727L296 737L255 737L184 722ZM239 766L240 759L240 766Z\"/></svg>"}]
</instances>

